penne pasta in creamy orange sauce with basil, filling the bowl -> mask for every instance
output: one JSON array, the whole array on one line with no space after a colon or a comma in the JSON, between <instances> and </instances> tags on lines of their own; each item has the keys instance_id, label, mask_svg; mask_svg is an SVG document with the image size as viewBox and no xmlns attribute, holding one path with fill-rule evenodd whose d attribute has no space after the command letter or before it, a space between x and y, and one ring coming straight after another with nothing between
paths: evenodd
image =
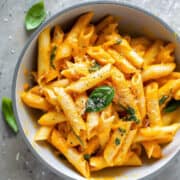
<instances>
[{"instance_id":1,"label":"penne pasta in creamy orange sauce with basil, filling the bowl","mask_svg":"<svg viewBox=\"0 0 180 180\"><path fill-rule=\"evenodd\" d=\"M84 177L163 157L180 124L175 44L122 34L117 18L92 23L80 15L70 30L38 36L34 83L22 102L38 109L34 141L46 141Z\"/></svg>"}]
</instances>

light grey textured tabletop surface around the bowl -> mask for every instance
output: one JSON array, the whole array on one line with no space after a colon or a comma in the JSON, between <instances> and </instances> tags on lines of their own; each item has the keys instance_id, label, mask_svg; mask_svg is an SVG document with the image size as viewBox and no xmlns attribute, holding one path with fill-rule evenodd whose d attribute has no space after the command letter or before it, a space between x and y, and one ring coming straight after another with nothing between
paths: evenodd
<instances>
[{"instance_id":1,"label":"light grey textured tabletop surface around the bowl","mask_svg":"<svg viewBox=\"0 0 180 180\"><path fill-rule=\"evenodd\" d=\"M85 0L46 0L48 16L58 10ZM163 18L180 33L179 0L117 0L143 7ZM24 30L26 10L34 0L0 0L0 99L11 95L11 84L18 56L30 34ZM154 179L179 180L180 156ZM40 164L21 138L7 128L0 114L0 179L58 180L61 179ZM150 180L150 179L149 179ZM152 180L152 179L151 179Z\"/></svg>"}]
</instances>

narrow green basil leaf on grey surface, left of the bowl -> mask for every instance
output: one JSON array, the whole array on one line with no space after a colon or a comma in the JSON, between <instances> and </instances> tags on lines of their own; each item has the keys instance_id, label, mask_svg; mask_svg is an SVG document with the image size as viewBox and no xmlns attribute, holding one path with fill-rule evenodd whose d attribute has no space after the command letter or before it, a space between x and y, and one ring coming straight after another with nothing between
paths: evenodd
<instances>
[{"instance_id":1,"label":"narrow green basil leaf on grey surface, left of the bowl","mask_svg":"<svg viewBox=\"0 0 180 180\"><path fill-rule=\"evenodd\" d=\"M18 126L17 126L16 119L13 113L12 100L10 98L3 97L2 112L3 112L6 123L14 131L14 133L17 133Z\"/></svg>"}]
</instances>

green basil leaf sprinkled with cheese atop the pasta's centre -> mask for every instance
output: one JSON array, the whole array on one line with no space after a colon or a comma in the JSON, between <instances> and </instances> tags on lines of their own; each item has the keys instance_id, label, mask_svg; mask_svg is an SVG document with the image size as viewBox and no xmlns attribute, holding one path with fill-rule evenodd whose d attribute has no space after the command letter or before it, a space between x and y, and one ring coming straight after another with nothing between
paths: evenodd
<instances>
[{"instance_id":1,"label":"green basil leaf sprinkled with cheese atop the pasta's centre","mask_svg":"<svg viewBox=\"0 0 180 180\"><path fill-rule=\"evenodd\" d=\"M113 100L114 89L110 86L96 88L86 103L86 112L98 112L106 108Z\"/></svg>"}]
</instances>

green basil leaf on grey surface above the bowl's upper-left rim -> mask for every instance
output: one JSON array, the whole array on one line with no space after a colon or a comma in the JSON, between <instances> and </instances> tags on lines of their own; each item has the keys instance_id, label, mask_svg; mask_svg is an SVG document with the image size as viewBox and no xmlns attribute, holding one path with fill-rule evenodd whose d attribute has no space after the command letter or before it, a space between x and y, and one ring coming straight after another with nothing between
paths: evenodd
<instances>
[{"instance_id":1,"label":"green basil leaf on grey surface above the bowl's upper-left rim","mask_svg":"<svg viewBox=\"0 0 180 180\"><path fill-rule=\"evenodd\" d=\"M25 26L27 30L37 28L46 18L44 1L34 4L27 12L25 17Z\"/></svg>"}]
</instances>

